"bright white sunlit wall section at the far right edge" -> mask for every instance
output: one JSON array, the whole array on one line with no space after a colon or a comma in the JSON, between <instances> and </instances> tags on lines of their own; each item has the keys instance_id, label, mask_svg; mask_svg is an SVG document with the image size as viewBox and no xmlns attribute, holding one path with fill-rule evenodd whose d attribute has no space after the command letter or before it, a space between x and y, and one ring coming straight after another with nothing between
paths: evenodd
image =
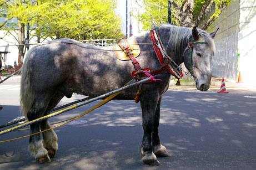
<instances>
[{"instance_id":1,"label":"bright white sunlit wall section at the far right edge","mask_svg":"<svg viewBox=\"0 0 256 170\"><path fill-rule=\"evenodd\" d=\"M256 86L256 0L240 0L238 53L242 81Z\"/></svg>"}]
</instances>

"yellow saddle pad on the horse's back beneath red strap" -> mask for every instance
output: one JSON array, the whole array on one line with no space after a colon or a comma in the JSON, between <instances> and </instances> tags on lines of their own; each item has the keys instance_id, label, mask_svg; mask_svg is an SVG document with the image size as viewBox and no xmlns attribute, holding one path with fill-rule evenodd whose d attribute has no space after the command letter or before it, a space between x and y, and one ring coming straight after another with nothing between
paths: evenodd
<instances>
[{"instance_id":1,"label":"yellow saddle pad on the horse's back beneath red strap","mask_svg":"<svg viewBox=\"0 0 256 170\"><path fill-rule=\"evenodd\" d=\"M139 45L134 37L130 37L127 39L128 45L132 50L134 58L138 57L140 54ZM112 46L113 51L115 52L116 56L120 60L130 60L129 56L126 56L126 53L123 52L122 48L119 45Z\"/></svg>"}]
</instances>

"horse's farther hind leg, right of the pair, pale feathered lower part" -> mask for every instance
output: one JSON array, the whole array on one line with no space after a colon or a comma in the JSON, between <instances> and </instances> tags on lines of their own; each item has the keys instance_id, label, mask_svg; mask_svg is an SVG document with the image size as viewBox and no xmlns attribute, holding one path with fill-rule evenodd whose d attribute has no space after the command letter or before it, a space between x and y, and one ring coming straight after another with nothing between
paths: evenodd
<instances>
[{"instance_id":1,"label":"horse's farther hind leg, right of the pair, pale feathered lower part","mask_svg":"<svg viewBox=\"0 0 256 170\"><path fill-rule=\"evenodd\" d=\"M53 96L53 98L48 104L46 111L44 112L44 116L48 115L52 111L52 109L59 103L59 101L61 101L63 96L64 95L60 91L58 91L57 94ZM42 131L51 128L48 120L43 120L41 122L40 127ZM56 151L58 150L58 136L56 135L53 129L43 132L42 135L43 135L43 146L48 151L48 156L50 158L53 158L56 154Z\"/></svg>"}]
</instances>

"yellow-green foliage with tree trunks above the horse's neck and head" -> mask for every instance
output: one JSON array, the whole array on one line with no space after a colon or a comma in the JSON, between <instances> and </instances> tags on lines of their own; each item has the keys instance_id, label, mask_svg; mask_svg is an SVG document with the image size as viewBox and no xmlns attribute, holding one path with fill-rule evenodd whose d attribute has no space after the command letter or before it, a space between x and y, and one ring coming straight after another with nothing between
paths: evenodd
<instances>
[{"instance_id":1,"label":"yellow-green foliage with tree trunks above the horse's neck and head","mask_svg":"<svg viewBox=\"0 0 256 170\"><path fill-rule=\"evenodd\" d=\"M223 9L228 6L234 0L213 0L213 3L209 3L207 6L207 10L203 9L203 6L207 4L207 0L172 0L172 23L175 25L183 26L183 19L187 17L187 13L185 13L185 8L190 7L189 12L193 15L193 20L190 20L190 27L197 26L199 24L202 25L204 22L213 22L213 20L205 19L205 12L209 12L208 9L213 6L214 10L211 13L210 18L218 18L219 14L223 11ZM194 2L193 9L191 8L189 3ZM176 4L176 6L174 6ZM184 5L184 6L182 6ZM162 25L163 23L168 22L168 1L167 0L143 0L143 8L147 11L150 16L146 12L142 12L138 19L143 23L143 29L150 29L149 22L152 22L152 17L157 22L157 25ZM203 17L199 17L199 15ZM208 14L208 13L207 13ZM197 20L197 22L196 22Z\"/></svg>"}]
</instances>

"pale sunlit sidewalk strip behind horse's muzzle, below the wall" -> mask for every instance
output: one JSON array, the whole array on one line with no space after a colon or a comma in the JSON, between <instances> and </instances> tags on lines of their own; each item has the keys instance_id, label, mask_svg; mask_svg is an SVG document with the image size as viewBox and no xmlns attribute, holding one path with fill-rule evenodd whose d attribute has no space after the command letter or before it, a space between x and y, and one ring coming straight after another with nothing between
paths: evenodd
<instances>
[{"instance_id":1,"label":"pale sunlit sidewalk strip behind horse's muzzle, below the wall","mask_svg":"<svg viewBox=\"0 0 256 170\"><path fill-rule=\"evenodd\" d=\"M195 85L187 85L188 83L181 83L181 86L176 86L173 80L170 80L169 89L174 90L185 90L185 91L198 91ZM222 83L222 78L217 76L212 76L212 85L208 91L218 92L220 91L220 84ZM192 83L190 83L192 84ZM225 80L225 87L228 92L242 92L242 93L255 93L256 94L256 85L249 86L244 83L234 83L232 81Z\"/></svg>"}]
</instances>

